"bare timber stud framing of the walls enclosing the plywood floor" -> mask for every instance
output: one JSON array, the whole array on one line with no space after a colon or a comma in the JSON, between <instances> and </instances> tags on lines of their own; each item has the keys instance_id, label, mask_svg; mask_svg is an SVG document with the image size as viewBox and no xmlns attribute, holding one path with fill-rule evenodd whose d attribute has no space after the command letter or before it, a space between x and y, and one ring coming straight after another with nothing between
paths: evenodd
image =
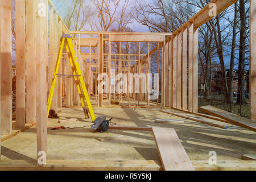
<instances>
[{"instance_id":1,"label":"bare timber stud framing of the walls enclosing the plywood floor","mask_svg":"<svg viewBox=\"0 0 256 182\"><path fill-rule=\"evenodd\" d=\"M213 0L217 14L237 0ZM80 63L89 96L103 105L104 95L97 93L99 73L151 73L151 56L157 55L157 73L162 78L164 90L157 104L191 113L198 109L198 28L213 18L209 16L209 5L200 10L187 23L172 33L135 32L72 32L65 26L51 0L15 0L16 34L16 127L25 123L37 123L38 152L47 152L46 104L49 87L55 69L56 57L62 34L73 35L73 45ZM11 0L0 1L0 46L1 46L1 134L12 132L12 38ZM44 12L46 11L46 12ZM250 110L256 121L256 0L250 1ZM76 36L75 36L76 35ZM128 52L112 51L112 44L126 42ZM139 47L131 53L131 44ZM147 53L141 53L141 44ZM151 49L151 46L155 48ZM83 52L81 47L89 49ZM106 48L108 47L108 48ZM118 49L118 48L117 48ZM104 51L108 50L108 52ZM111 59L111 60L110 60ZM124 64L125 63L125 64ZM159 67L162 63L162 68ZM59 73L71 74L67 52L63 52ZM53 94L52 109L79 105L73 79L58 78ZM110 86L109 86L110 89ZM65 98L65 99L63 99ZM146 101L148 94L105 94L111 100ZM63 102L64 101L64 102ZM0 143L1 146L1 143ZM1 150L0 150L1 151ZM1 154L0 154L1 156Z\"/></svg>"}]
</instances>

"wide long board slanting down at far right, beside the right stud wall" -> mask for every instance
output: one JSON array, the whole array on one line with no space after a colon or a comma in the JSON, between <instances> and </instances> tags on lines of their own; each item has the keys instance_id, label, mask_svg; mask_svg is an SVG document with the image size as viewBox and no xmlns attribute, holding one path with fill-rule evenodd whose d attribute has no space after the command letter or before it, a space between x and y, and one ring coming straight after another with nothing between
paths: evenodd
<instances>
[{"instance_id":1,"label":"wide long board slanting down at far right, beside the right stud wall","mask_svg":"<svg viewBox=\"0 0 256 182\"><path fill-rule=\"evenodd\" d=\"M240 117L239 115L229 113L228 111L224 111L213 106L203 106L199 109L205 113L225 119L229 121L229 123L232 122L233 125L256 131L256 122L251 121L250 119Z\"/></svg>"}]
</instances>

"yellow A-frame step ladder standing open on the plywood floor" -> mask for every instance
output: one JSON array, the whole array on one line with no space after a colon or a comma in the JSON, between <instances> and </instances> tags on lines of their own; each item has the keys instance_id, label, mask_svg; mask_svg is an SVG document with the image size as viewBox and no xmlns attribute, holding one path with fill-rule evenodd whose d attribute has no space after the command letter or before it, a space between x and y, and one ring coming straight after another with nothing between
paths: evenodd
<instances>
[{"instance_id":1,"label":"yellow A-frame step ladder standing open on the plywood floor","mask_svg":"<svg viewBox=\"0 0 256 182\"><path fill-rule=\"evenodd\" d=\"M61 60L61 56L62 56L64 46L66 47L66 50L68 52L68 58L69 58L69 62L71 64L73 75L57 74L58 71L59 71L60 60ZM51 108L52 96L53 96L53 92L54 92L54 89L55 89L57 77L73 77L73 78L75 78L75 83L76 83L76 86L77 86L77 90L79 92L80 100L81 100L81 103L82 103L82 108L84 109L85 118L89 118L89 114L90 114L90 118L94 122L96 118L95 118L95 115L94 115L94 112L93 112L92 104L90 102L90 98L89 98L89 95L88 95L88 92L87 92L87 89L86 89L86 86L85 86L84 79L82 78L82 72L81 72L81 69L79 67L79 63L77 61L76 52L75 52L75 49L73 47L71 36L68 35L68 34L63 34L63 36L61 37L59 54L58 54L58 57L57 57L55 72L54 72L53 78L52 78L51 90L49 92L49 98L48 98L48 101L47 101L47 119L48 119L48 116L49 116L49 110ZM88 111L89 111L89 114L88 114Z\"/></svg>"}]
</instances>

